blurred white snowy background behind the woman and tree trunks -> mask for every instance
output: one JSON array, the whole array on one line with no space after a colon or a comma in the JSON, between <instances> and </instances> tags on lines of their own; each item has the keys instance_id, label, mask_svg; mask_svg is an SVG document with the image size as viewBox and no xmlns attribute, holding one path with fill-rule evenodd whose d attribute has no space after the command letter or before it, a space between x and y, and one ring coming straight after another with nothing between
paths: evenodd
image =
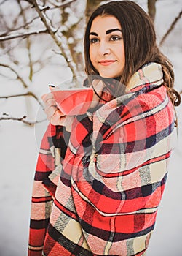
<instances>
[{"instance_id":1,"label":"blurred white snowy background behind the woman and tree trunks","mask_svg":"<svg viewBox=\"0 0 182 256\"><path fill-rule=\"evenodd\" d=\"M14 24L15 27L18 27L21 22L22 25L25 23L23 15L21 16L22 20L17 22L15 19L20 13L17 2L16 0L0 0L0 40L6 35L4 28L8 30ZM68 1L55 2L63 4L63 2ZM92 2L96 4L97 1ZM146 0L136 2L147 11ZM44 26L37 27L38 18L33 16L34 10L32 10L31 5L27 1L20 1L20 3L23 10L28 9L28 12L26 12L29 15L27 20L33 20L34 28L39 31L44 30ZM64 10L62 15L67 16L62 16L62 18L71 17L63 25L66 26L67 31L71 23L81 23L82 25L84 20L80 19L83 17L85 6L86 0L72 1L71 7L70 5L66 6L67 9ZM74 8L72 13L71 8ZM182 0L158 0L156 2L155 26L158 42L160 42L167 29L170 28L175 17L181 12L181 8ZM76 16L75 13L79 13L79 15ZM4 23L4 18L6 18L6 22L8 20L8 23ZM55 25L58 18L55 12L50 10L49 18ZM22 27L22 29L27 29L28 26L27 21L26 28ZM64 30L66 31L66 28L63 28L63 26L61 27L62 30L59 31L61 36L65 36ZM76 39L80 40L81 43L74 45L74 47L77 47L77 53L82 53L84 33L82 26L80 29L79 26L76 26L76 33L66 37L67 41L63 42L73 45ZM173 31L161 46L163 52L173 62L175 88L178 91L182 90L181 39L182 18L178 20ZM60 55L60 48L47 34L42 34L39 37L36 37L36 35L26 38L20 37L19 40L12 39L0 43L0 118L23 118L25 115L27 118L23 120L41 121L34 125L28 125L17 120L0 120L0 256L25 256L27 255L34 170L41 137L47 127L47 121L42 121L46 117L39 101L41 101L41 95L48 91L48 84L63 83L63 81L71 78L72 72L71 67L68 67L67 62ZM68 50L66 53L68 53ZM76 58L78 59L80 56L77 54ZM81 62L79 62L80 66L74 67L77 70L77 76L83 74L82 70L84 68L80 64ZM9 97L15 94L28 94L28 91L31 91L33 97ZM176 110L179 118L178 138L174 138L167 185L147 256L182 255L182 107L179 106Z\"/></svg>"}]
</instances>

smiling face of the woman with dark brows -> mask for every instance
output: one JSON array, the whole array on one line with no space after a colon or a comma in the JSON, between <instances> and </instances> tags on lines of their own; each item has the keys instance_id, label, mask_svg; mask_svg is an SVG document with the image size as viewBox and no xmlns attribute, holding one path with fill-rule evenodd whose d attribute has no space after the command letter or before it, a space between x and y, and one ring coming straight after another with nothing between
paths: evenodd
<instances>
[{"instance_id":1,"label":"smiling face of the woman with dark brows","mask_svg":"<svg viewBox=\"0 0 182 256\"><path fill-rule=\"evenodd\" d=\"M90 60L103 78L116 78L124 68L124 42L119 21L111 15L98 16L90 28Z\"/></svg>"}]
</instances>

